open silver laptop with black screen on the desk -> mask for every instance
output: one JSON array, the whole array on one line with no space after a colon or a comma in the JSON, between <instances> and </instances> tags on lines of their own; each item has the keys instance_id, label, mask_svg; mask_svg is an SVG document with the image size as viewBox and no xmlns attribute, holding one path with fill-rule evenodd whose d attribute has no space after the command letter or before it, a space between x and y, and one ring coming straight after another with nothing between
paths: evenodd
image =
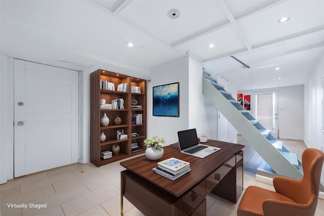
<instances>
[{"instance_id":1,"label":"open silver laptop with black screen on the desk","mask_svg":"<svg viewBox=\"0 0 324 216\"><path fill-rule=\"evenodd\" d=\"M180 152L195 157L205 158L221 148L198 144L196 129L187 129L178 132Z\"/></svg>"}]
</instances>

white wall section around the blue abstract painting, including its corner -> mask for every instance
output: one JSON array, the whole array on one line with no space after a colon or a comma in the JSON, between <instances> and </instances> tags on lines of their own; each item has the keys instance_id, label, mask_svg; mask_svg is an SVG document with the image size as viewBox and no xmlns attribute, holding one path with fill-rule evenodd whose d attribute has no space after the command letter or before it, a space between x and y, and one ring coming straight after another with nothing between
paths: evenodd
<instances>
[{"instance_id":1,"label":"white wall section around the blue abstract painting, including its corner","mask_svg":"<svg viewBox=\"0 0 324 216\"><path fill-rule=\"evenodd\" d=\"M151 69L147 83L147 137L160 136L165 145L178 142L177 132L196 128L197 135L207 131L207 118L202 97L202 71L200 62L185 56ZM157 85L180 82L179 117L152 115L152 88Z\"/></svg>"}]
</instances>

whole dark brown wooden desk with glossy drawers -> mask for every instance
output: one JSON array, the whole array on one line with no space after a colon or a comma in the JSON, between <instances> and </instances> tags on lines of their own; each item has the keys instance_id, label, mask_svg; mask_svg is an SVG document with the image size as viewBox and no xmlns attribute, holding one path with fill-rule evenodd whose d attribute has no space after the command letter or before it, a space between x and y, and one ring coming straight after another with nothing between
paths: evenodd
<instances>
[{"instance_id":1,"label":"whole dark brown wooden desk with glossy drawers","mask_svg":"<svg viewBox=\"0 0 324 216\"><path fill-rule=\"evenodd\" d=\"M180 153L176 143L164 147L160 160L141 156L121 162L127 170L121 172L120 213L123 214L123 196L149 216L206 215L206 196L210 192L236 202L242 191L242 180L240 193L237 191L236 170L243 167L244 146L213 140L206 145L221 150L201 159ZM170 157L190 162L191 171L176 181L155 174L152 168L156 163Z\"/></svg>"}]
</instances>

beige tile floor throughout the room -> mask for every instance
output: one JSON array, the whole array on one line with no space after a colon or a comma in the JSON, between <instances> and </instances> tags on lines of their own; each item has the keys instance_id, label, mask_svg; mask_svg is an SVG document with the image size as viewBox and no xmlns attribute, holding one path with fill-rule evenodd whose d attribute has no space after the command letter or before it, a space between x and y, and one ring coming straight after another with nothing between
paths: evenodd
<instances>
[{"instance_id":1,"label":"beige tile floor throughout the room","mask_svg":"<svg viewBox=\"0 0 324 216\"><path fill-rule=\"evenodd\" d=\"M237 141L246 146L245 165L254 168L261 157L244 138L237 136ZM300 159L302 151L306 148L304 143L283 141ZM0 186L1 215L120 215L119 172L123 169L119 162L101 167L92 163L71 164L10 180ZM250 185L274 190L272 185L257 182L253 172L244 170L244 189ZM143 215L130 202L124 200L125 216ZM10 203L28 206L10 208ZM30 207L31 204L35 204L33 208ZM46 204L46 207L39 204ZM235 216L237 205L211 194L207 197L207 215ZM318 200L315 215L324 215L324 200Z\"/></svg>"}]
</instances>

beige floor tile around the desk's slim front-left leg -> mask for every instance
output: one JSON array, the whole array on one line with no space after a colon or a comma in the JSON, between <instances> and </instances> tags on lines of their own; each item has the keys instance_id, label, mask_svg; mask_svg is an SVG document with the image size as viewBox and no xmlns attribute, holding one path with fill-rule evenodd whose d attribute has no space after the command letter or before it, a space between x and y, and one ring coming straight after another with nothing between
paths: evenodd
<instances>
[{"instance_id":1,"label":"beige floor tile around the desk's slim front-left leg","mask_svg":"<svg viewBox=\"0 0 324 216\"><path fill-rule=\"evenodd\" d=\"M101 206L109 213L109 215L120 215L120 196L116 196L104 203ZM134 205L124 197L123 200L124 212L129 211Z\"/></svg>"}]
</instances>

